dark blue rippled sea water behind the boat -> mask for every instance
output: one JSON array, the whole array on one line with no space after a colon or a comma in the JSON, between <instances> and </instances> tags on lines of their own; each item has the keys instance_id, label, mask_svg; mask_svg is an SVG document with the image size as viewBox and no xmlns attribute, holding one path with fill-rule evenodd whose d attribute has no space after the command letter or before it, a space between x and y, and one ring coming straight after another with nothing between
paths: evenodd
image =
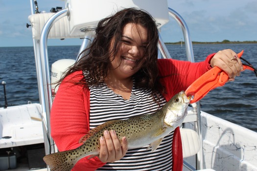
<instances>
[{"instance_id":1,"label":"dark blue rippled sea water behind the boat","mask_svg":"<svg viewBox=\"0 0 257 171\"><path fill-rule=\"evenodd\" d=\"M186 60L185 46L167 45L174 59ZM210 53L231 48L244 50L243 57L257 67L257 44L197 44L193 45L195 62ZM49 64L59 59L76 59L79 46L48 47ZM6 82L8 106L39 103L33 47L0 47L0 82ZM235 124L257 131L257 77L245 70L234 82L218 87L201 100L202 110ZM4 106L0 85L0 107Z\"/></svg>"}]
</instances>

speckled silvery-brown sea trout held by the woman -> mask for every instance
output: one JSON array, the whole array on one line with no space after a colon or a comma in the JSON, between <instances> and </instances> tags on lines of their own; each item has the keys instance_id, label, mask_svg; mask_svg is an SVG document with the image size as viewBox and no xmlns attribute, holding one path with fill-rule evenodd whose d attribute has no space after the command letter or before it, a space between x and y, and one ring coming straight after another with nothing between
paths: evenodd
<instances>
[{"instance_id":1,"label":"speckled silvery-brown sea trout held by the woman","mask_svg":"<svg viewBox=\"0 0 257 171\"><path fill-rule=\"evenodd\" d=\"M149 145L154 151L166 135L182 124L189 102L190 97L181 91L155 113L105 122L82 137L79 142L84 144L77 149L46 155L44 161L51 171L70 171L81 158L99 154L104 130L115 130L120 140L125 136L129 149Z\"/></svg>"}]
</instances>

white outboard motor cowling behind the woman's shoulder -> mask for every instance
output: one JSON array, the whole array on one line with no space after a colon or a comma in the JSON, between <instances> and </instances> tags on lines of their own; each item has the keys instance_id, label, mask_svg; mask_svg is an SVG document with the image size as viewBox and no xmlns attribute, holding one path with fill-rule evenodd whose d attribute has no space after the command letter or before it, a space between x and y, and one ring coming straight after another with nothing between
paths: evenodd
<instances>
[{"instance_id":1,"label":"white outboard motor cowling behind the woman's shoulder","mask_svg":"<svg viewBox=\"0 0 257 171\"><path fill-rule=\"evenodd\" d=\"M65 71L75 63L75 60L72 59L61 59L52 64L51 68L51 89L52 95L55 96L58 86L55 87L57 82L62 78Z\"/></svg>"}]
</instances>

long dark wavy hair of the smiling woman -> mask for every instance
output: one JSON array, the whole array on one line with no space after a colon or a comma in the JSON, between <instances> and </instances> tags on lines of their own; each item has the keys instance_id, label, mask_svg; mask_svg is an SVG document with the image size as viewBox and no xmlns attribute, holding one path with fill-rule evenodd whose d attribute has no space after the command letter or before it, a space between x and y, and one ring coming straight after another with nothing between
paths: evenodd
<instances>
[{"instance_id":1,"label":"long dark wavy hair of the smiling woman","mask_svg":"<svg viewBox=\"0 0 257 171\"><path fill-rule=\"evenodd\" d=\"M88 54L72 65L61 81L72 72L84 70L89 73L90 82L83 79L74 84L82 84L87 87L88 85L103 83L110 69L111 60L119 51L123 28L127 23L140 24L147 29L144 57L137 62L136 66L140 69L133 75L136 86L151 88L153 90L152 97L155 100L159 99L156 95L162 88L158 81L158 30L152 16L137 8L120 10L115 15L99 21L92 45L89 49L81 52L83 54L89 50Z\"/></svg>"}]
</instances>

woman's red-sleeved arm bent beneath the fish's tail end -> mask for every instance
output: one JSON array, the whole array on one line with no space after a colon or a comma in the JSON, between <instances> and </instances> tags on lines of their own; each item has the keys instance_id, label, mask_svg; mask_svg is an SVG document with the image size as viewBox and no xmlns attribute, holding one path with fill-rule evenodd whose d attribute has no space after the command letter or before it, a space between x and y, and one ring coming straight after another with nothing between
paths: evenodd
<instances>
[{"instance_id":1,"label":"woman's red-sleeved arm bent beneath the fish's tail end","mask_svg":"<svg viewBox=\"0 0 257 171\"><path fill-rule=\"evenodd\" d=\"M51 136L60 151L81 146L82 144L78 143L79 139L89 131L89 90L70 83L71 80L82 79L81 74L82 71L77 71L65 78L59 86L51 108ZM73 171L93 171L105 164L97 157L87 158L79 160Z\"/></svg>"}]
</instances>

